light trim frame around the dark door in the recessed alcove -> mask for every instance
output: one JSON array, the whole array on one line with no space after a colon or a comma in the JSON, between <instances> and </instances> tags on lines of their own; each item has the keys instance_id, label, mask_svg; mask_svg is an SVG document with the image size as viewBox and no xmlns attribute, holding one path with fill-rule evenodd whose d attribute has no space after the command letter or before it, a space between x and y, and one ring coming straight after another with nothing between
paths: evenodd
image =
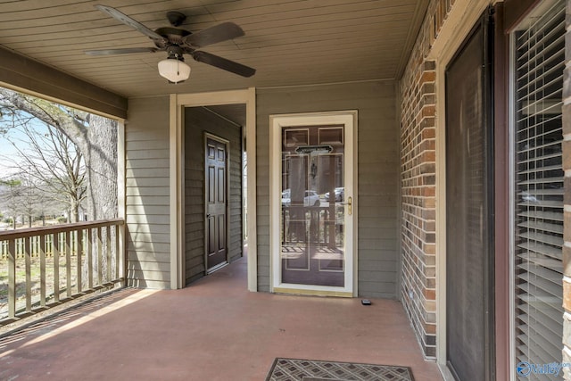
<instances>
[{"instance_id":1,"label":"light trim frame around the dark door in the recessed alcove","mask_svg":"<svg viewBox=\"0 0 571 381\"><path fill-rule=\"evenodd\" d=\"M224 212L224 224L226 225L225 227L225 235L224 235L224 245L226 246L225 250L226 250L226 259L224 262L219 263L218 265L212 267L211 269L208 268L208 219L206 218L206 214L208 214L207 208L208 208L208 194L206 192L206 186L207 186L207 182L206 182L206 172L208 170L208 163L206 162L206 145L208 144L208 139L211 140L215 140L221 144L224 145L225 147L225 152L226 152L226 160L224 162L224 166L225 166L225 172L224 172L224 194L226 195L226 206L225 206L225 212ZM228 255L229 255L229 251L228 251L228 232L229 232L229 228L230 228L230 220L229 220L229 200L230 200L230 181L229 181L229 169L230 169L230 142L223 138L223 137L219 137L217 135L211 134L210 132L204 132L204 140L203 140L203 148L204 148L204 152L203 152L203 156L204 156L204 274L208 275L211 274L212 272L216 271L217 269L223 268L224 266L228 265L229 263L229 259L228 259Z\"/></svg>"}]
</instances>

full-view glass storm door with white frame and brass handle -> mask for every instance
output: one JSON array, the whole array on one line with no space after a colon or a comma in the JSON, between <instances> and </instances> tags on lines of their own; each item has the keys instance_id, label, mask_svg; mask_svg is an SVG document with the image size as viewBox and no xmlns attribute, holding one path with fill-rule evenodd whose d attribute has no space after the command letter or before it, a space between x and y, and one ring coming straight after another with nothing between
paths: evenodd
<instances>
[{"instance_id":1,"label":"full-view glass storm door with white frame and brass handle","mask_svg":"<svg viewBox=\"0 0 571 381\"><path fill-rule=\"evenodd\" d=\"M352 123L334 118L314 124L319 121L315 118L285 120L273 131L278 149L273 153L272 191L279 197L273 216L278 219L274 291L343 294L352 290L347 231L348 225L352 231L354 208L352 149L347 147Z\"/></svg>"}]
</instances>

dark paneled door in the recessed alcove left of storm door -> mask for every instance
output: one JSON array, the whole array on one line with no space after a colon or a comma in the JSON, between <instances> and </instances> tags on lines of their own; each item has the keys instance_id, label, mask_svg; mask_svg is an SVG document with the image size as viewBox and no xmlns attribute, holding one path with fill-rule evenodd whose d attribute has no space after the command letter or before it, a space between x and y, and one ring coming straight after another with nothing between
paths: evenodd
<instances>
[{"instance_id":1,"label":"dark paneled door in the recessed alcove left of storm door","mask_svg":"<svg viewBox=\"0 0 571 381\"><path fill-rule=\"evenodd\" d=\"M227 263L227 144L207 137L205 147L206 269Z\"/></svg>"}]
</instances>

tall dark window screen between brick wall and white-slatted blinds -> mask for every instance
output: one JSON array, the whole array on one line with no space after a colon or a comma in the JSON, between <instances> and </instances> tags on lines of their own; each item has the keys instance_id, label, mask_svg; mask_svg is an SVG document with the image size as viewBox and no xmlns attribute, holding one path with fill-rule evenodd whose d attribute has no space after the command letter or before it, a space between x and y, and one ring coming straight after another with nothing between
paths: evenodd
<instances>
[{"instance_id":1,"label":"tall dark window screen between brick wall and white-slatted blinds","mask_svg":"<svg viewBox=\"0 0 571 381\"><path fill-rule=\"evenodd\" d=\"M446 352L448 369L458 380L489 379L487 21L486 12L446 68Z\"/></svg>"}]
</instances>

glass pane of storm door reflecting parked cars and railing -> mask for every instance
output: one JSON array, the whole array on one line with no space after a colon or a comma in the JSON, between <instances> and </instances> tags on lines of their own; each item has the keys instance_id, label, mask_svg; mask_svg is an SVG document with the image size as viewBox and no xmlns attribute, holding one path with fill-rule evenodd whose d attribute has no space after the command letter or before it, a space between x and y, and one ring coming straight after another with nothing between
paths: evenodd
<instances>
[{"instance_id":1,"label":"glass pane of storm door reflecting parked cars and railing","mask_svg":"<svg viewBox=\"0 0 571 381\"><path fill-rule=\"evenodd\" d=\"M344 125L281 129L281 281L345 282Z\"/></svg>"}]
</instances>

